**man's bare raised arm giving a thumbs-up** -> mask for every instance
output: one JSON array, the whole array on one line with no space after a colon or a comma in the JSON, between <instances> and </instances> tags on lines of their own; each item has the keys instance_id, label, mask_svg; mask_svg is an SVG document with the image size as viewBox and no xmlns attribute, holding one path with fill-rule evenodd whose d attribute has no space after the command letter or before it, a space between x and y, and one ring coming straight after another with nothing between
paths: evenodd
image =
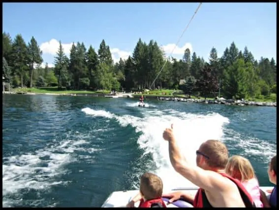
<instances>
[{"instance_id":1,"label":"man's bare raised arm giving a thumbs-up","mask_svg":"<svg viewBox=\"0 0 279 210\"><path fill-rule=\"evenodd\" d=\"M163 137L169 142L169 158L173 168L187 180L208 191L226 190L230 186L230 182L216 172L191 165L180 152L172 129L166 129Z\"/></svg>"}]
</instances>

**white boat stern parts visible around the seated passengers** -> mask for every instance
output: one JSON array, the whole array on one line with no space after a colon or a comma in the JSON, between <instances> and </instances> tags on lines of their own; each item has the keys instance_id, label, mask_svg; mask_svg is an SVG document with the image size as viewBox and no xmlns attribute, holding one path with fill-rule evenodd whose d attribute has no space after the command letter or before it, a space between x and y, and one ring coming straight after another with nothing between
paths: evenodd
<instances>
[{"instance_id":1,"label":"white boat stern parts visible around the seated passengers","mask_svg":"<svg viewBox=\"0 0 279 210\"><path fill-rule=\"evenodd\" d=\"M273 187L260 187L267 196L269 196L269 193L266 192L268 189L272 189ZM197 188L180 188L180 189L173 189L171 190L172 192L174 191L186 191L187 193L192 194L193 196L197 192ZM138 193L138 190L128 190L128 191L115 191L109 195L107 200L104 202L102 205L102 208L108 208L108 207L126 207L127 203ZM164 193L169 193L164 192ZM165 201L164 201L165 202ZM167 204L167 202L165 202ZM135 203L135 207L139 206L139 202ZM167 205L168 208L178 208L175 205L169 204ZM189 207L190 204L189 204Z\"/></svg>"}]
</instances>

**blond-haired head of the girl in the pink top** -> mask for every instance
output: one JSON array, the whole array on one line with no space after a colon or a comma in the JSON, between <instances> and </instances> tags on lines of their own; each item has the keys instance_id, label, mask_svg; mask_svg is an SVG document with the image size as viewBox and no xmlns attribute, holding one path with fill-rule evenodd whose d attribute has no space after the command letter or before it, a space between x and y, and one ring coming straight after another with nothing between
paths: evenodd
<instances>
[{"instance_id":1,"label":"blond-haired head of the girl in the pink top","mask_svg":"<svg viewBox=\"0 0 279 210\"><path fill-rule=\"evenodd\" d=\"M225 173L242 182L255 177L255 172L250 161L239 155L233 155L229 158Z\"/></svg>"}]
</instances>

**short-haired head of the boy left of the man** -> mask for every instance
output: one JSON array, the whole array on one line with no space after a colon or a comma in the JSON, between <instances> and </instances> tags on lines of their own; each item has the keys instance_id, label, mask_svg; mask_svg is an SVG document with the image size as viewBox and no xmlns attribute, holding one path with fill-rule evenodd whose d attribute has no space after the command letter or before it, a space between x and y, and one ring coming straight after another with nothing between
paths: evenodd
<instances>
[{"instance_id":1,"label":"short-haired head of the boy left of the man","mask_svg":"<svg viewBox=\"0 0 279 210\"><path fill-rule=\"evenodd\" d=\"M162 196L163 182L152 173L144 173L140 179L140 193L145 200L152 200Z\"/></svg>"}]
</instances>

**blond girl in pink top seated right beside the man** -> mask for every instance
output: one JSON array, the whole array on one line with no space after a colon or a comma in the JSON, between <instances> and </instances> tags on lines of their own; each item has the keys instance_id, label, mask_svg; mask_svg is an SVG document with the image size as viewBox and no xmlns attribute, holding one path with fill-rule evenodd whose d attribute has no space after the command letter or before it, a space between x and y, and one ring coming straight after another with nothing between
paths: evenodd
<instances>
[{"instance_id":1,"label":"blond girl in pink top seated right beside the man","mask_svg":"<svg viewBox=\"0 0 279 210\"><path fill-rule=\"evenodd\" d=\"M225 173L241 181L246 190L250 193L257 208L263 207L263 203L260 200L259 182L248 159L239 155L231 156L226 165Z\"/></svg>"}]
</instances>

